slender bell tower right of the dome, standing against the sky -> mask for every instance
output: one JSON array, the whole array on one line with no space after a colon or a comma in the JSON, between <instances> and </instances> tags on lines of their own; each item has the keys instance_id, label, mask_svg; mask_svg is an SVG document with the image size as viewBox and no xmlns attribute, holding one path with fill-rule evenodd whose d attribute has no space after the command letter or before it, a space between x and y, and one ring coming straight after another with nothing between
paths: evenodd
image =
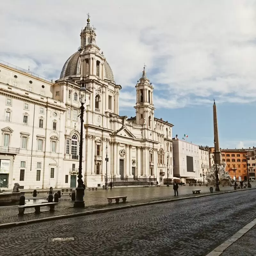
<instances>
[{"instance_id":1,"label":"slender bell tower right of the dome, standing against the sky","mask_svg":"<svg viewBox=\"0 0 256 256\"><path fill-rule=\"evenodd\" d=\"M144 125L144 128L153 130L154 126L154 104L153 104L153 86L150 83L143 68L142 76L136 86L136 124Z\"/></svg>"}]
</instances>

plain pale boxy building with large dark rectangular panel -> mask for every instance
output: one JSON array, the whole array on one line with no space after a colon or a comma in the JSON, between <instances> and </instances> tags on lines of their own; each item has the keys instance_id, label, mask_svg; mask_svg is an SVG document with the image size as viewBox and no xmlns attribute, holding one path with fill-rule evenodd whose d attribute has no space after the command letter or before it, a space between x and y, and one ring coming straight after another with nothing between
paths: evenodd
<instances>
[{"instance_id":1,"label":"plain pale boxy building with large dark rectangular panel","mask_svg":"<svg viewBox=\"0 0 256 256\"><path fill-rule=\"evenodd\" d=\"M189 143L186 140L173 138L173 176L180 178L181 182L194 182L202 177L201 157L199 146ZM200 176L201 174L201 176ZM174 178L175 179L175 178Z\"/></svg>"}]
</instances>

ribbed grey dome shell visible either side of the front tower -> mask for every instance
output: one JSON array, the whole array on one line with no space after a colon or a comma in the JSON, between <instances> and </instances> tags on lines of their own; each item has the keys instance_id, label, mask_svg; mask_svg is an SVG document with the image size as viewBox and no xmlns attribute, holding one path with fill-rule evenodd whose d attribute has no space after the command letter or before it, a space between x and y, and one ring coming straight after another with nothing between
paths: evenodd
<instances>
[{"instance_id":1,"label":"ribbed grey dome shell visible either side of the front tower","mask_svg":"<svg viewBox=\"0 0 256 256\"><path fill-rule=\"evenodd\" d=\"M75 52L72 54L68 60L65 62L61 73L60 73L60 79L63 77L69 77L69 76L74 76L74 75L80 75L80 65L81 65L81 50ZM114 80L114 75L112 72L112 69L110 68L108 62L105 60L104 62L104 68L105 68L105 77L107 79L110 79L112 82L115 82Z\"/></svg>"}]
</instances>

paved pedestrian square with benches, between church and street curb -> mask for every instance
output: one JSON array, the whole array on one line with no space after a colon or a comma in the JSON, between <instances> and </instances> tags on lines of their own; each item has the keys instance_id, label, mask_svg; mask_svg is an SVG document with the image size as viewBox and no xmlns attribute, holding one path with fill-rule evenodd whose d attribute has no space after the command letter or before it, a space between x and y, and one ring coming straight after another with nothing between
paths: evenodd
<instances>
[{"instance_id":1,"label":"paved pedestrian square with benches, between church and street curb","mask_svg":"<svg viewBox=\"0 0 256 256\"><path fill-rule=\"evenodd\" d=\"M187 197L187 196L197 196L196 194L192 194L192 189L195 187L180 187L179 188L179 198L180 197ZM132 190L133 189L133 190ZM201 189L201 188L200 188ZM226 190L233 190L234 188L230 187L222 187L222 191ZM144 192L143 192L144 191ZM202 194L209 194L209 188L202 187ZM144 194L143 194L144 193ZM235 193L241 193L241 192L235 192ZM79 209L79 208L73 208L74 202L70 201L64 201L59 202L59 204L55 207L54 212L49 212L48 206L41 207L41 214L35 214L34 208L28 208L25 210L25 214L23 216L18 215L18 209L17 207L7 207L7 208L0 208L0 224L9 223L9 222L17 222L17 221L26 221L26 220L34 220L34 219L41 219L41 218L47 218L51 216L59 216L64 214L72 214L72 213L78 213L78 212L86 212L86 211L92 211L95 209L102 209L102 208L109 208L109 207L116 207L121 206L124 204L118 204L115 203L108 205L107 197L108 196L120 196L125 195L127 197L127 203L125 205L129 204L136 204L136 203L146 203L150 201L158 201L158 200L166 200L166 199L173 199L177 198L177 196L173 195L173 189L172 187L151 187L151 188L115 188L113 190L97 190L97 191L85 191L85 209ZM96 196L98 195L98 199ZM25 194L25 196L28 198L28 196L31 196L30 193ZM45 196L47 197L47 193L41 193L38 194L38 196ZM66 196L65 196L66 197ZM64 198L65 198L64 197ZM92 198L90 198L92 197ZM67 198L67 197L66 197ZM62 197L63 199L63 197ZM30 203L37 203L42 202L45 199L39 199L39 200L30 200L30 202L27 202L27 204ZM115 201L114 201L115 202Z\"/></svg>"}]
</instances>

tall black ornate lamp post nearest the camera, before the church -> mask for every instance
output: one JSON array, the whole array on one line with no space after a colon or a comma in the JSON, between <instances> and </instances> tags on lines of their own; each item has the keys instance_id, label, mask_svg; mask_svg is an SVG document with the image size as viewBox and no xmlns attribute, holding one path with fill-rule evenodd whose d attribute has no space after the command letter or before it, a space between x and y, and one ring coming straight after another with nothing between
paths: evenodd
<instances>
[{"instance_id":1,"label":"tall black ornate lamp post nearest the camera, before the church","mask_svg":"<svg viewBox=\"0 0 256 256\"><path fill-rule=\"evenodd\" d=\"M79 146L79 167L78 167L78 180L77 180L77 188L76 188L76 200L74 202L75 208L84 208L84 187L83 187L83 175L82 175L82 157L83 157L83 130L84 130L84 103L85 103L85 95L81 94L86 91L84 77L80 81L80 91L79 91L79 100L81 103L80 107L80 146Z\"/></svg>"}]
</instances>

